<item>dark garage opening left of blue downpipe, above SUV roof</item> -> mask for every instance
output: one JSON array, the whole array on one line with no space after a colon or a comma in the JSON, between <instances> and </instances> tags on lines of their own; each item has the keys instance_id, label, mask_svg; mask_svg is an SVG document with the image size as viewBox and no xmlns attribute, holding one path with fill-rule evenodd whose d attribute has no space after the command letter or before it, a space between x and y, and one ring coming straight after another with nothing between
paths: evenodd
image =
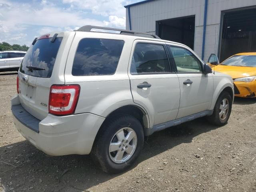
<instances>
[{"instance_id":1,"label":"dark garage opening left of blue downpipe, above SUV roof","mask_svg":"<svg viewBox=\"0 0 256 192\"><path fill-rule=\"evenodd\" d=\"M156 34L194 49L195 16L156 21Z\"/></svg>"}]
</instances>

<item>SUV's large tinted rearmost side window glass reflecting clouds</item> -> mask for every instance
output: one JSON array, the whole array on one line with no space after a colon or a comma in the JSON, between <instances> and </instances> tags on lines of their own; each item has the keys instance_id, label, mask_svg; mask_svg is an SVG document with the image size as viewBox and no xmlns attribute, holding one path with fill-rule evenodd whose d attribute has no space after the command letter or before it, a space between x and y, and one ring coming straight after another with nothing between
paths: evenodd
<instances>
[{"instance_id":1,"label":"SUV's large tinted rearmost side window glass reflecting clouds","mask_svg":"<svg viewBox=\"0 0 256 192\"><path fill-rule=\"evenodd\" d=\"M112 75L116 72L123 40L84 38L76 50L73 76Z\"/></svg>"}]
</instances>

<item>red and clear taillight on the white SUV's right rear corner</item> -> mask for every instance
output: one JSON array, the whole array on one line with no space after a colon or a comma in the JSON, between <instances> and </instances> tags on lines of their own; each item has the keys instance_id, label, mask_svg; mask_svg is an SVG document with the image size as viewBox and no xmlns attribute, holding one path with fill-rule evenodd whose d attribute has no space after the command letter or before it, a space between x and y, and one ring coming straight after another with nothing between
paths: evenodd
<instances>
[{"instance_id":1,"label":"red and clear taillight on the white SUV's right rear corner","mask_svg":"<svg viewBox=\"0 0 256 192\"><path fill-rule=\"evenodd\" d=\"M73 114L80 93L79 85L52 85L49 96L49 113L54 115Z\"/></svg>"}]
</instances>

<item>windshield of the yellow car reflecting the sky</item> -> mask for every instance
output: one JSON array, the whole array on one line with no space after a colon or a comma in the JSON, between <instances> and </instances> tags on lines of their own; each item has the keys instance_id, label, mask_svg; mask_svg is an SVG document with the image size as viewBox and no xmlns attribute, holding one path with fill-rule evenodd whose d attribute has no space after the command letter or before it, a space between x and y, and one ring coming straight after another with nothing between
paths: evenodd
<instances>
[{"instance_id":1,"label":"windshield of the yellow car reflecting the sky","mask_svg":"<svg viewBox=\"0 0 256 192\"><path fill-rule=\"evenodd\" d=\"M222 62L222 65L256 67L256 55L235 55Z\"/></svg>"}]
</instances>

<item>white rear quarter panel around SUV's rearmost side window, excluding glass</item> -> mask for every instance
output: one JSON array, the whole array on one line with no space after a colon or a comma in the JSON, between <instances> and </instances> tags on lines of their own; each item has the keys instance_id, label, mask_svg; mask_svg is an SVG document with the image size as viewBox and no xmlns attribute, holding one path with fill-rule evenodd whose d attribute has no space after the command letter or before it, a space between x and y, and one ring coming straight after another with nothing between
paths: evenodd
<instances>
[{"instance_id":1,"label":"white rear quarter panel around SUV's rearmost side window, excluding glass","mask_svg":"<svg viewBox=\"0 0 256 192\"><path fill-rule=\"evenodd\" d=\"M124 47L115 74L103 76L73 76L72 66L76 49L83 38L124 40ZM124 105L135 105L127 74L133 40L130 36L96 32L76 32L65 69L65 84L79 84L80 96L75 113L92 113L106 117Z\"/></svg>"}]
</instances>

